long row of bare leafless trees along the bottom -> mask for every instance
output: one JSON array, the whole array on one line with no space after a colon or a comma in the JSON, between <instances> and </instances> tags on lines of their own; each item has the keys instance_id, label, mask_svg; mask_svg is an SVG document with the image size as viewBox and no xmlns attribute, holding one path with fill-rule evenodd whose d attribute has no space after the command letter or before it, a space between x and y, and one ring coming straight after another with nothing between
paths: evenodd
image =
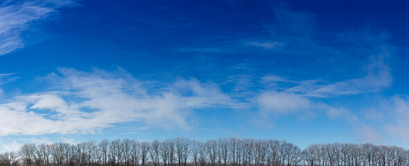
<instances>
[{"instance_id":1,"label":"long row of bare leafless trees along the bottom","mask_svg":"<svg viewBox=\"0 0 409 166\"><path fill-rule=\"evenodd\" d=\"M286 140L172 138L152 142L132 139L89 141L76 145L25 144L0 154L1 166L408 166L409 151L371 143L308 145Z\"/></svg>"}]
</instances>

